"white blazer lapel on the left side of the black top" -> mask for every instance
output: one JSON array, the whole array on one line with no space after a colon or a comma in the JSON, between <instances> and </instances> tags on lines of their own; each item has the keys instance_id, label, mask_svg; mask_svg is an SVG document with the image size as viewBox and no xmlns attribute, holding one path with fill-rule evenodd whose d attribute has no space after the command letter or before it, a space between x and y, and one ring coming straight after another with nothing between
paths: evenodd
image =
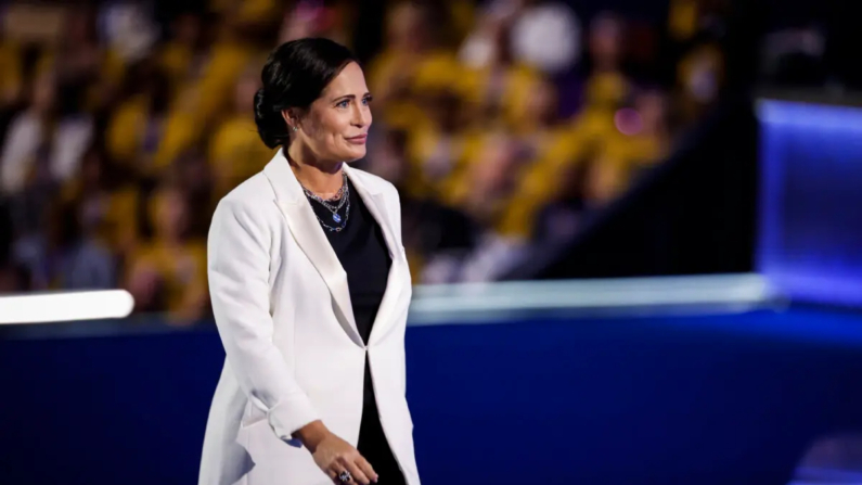
<instances>
[{"instance_id":1,"label":"white blazer lapel on the left side of the black top","mask_svg":"<svg viewBox=\"0 0 862 485\"><path fill-rule=\"evenodd\" d=\"M333 307L339 323L350 340L359 346L364 346L353 317L347 273L326 239L323 228L320 227L314 210L308 204L303 187L296 180L282 150L279 150L275 157L267 164L263 174L272 183L276 203L287 219L291 234L326 283L335 303Z\"/></svg>"}]
</instances>

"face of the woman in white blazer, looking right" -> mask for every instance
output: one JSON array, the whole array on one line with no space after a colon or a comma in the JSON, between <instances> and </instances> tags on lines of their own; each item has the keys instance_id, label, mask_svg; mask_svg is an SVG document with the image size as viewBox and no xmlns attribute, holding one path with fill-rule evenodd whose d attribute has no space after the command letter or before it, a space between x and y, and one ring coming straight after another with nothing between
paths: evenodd
<instances>
[{"instance_id":1,"label":"face of the woman in white blazer, looking right","mask_svg":"<svg viewBox=\"0 0 862 485\"><path fill-rule=\"evenodd\" d=\"M371 127L371 94L362 68L351 62L308 110L287 116L291 149L310 152L318 162L353 162L365 156ZM297 126L298 131L293 131Z\"/></svg>"}]
</instances>

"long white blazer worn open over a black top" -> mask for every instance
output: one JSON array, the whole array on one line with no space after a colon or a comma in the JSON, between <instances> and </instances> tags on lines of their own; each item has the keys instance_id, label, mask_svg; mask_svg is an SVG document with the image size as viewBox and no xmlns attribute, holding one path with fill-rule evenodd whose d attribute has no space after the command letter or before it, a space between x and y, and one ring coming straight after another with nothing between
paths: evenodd
<instances>
[{"instance_id":1,"label":"long white blazer worn open over a black top","mask_svg":"<svg viewBox=\"0 0 862 485\"><path fill-rule=\"evenodd\" d=\"M384 433L407 483L420 485L404 397L412 286L398 192L379 177L344 169L393 258L368 346L353 320L347 275L282 151L216 208L207 266L227 358L200 485L331 484L291 435L320 419L357 445L365 356Z\"/></svg>"}]
</instances>

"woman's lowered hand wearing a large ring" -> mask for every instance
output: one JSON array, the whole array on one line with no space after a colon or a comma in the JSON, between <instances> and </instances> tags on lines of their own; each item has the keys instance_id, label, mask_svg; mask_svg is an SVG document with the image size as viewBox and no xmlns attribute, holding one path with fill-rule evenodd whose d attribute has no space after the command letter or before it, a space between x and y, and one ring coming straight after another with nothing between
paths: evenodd
<instances>
[{"instance_id":1,"label":"woman's lowered hand wearing a large ring","mask_svg":"<svg viewBox=\"0 0 862 485\"><path fill-rule=\"evenodd\" d=\"M342 485L369 485L377 482L377 474L371 464L349 443L339 438L314 421L296 433L299 441L311 451L314 463L323 470L333 483ZM342 482L342 473L350 473L349 482Z\"/></svg>"}]
</instances>

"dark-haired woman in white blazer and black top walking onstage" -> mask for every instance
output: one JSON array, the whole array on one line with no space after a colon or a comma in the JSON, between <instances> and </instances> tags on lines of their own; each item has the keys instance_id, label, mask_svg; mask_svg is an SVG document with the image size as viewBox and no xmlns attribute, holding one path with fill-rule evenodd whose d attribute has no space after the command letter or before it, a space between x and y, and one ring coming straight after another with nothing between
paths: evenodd
<instances>
[{"instance_id":1,"label":"dark-haired woman in white blazer and black top walking onstage","mask_svg":"<svg viewBox=\"0 0 862 485\"><path fill-rule=\"evenodd\" d=\"M258 131L281 149L209 232L227 360L200 484L419 485L398 193L345 163L365 155L362 69L343 46L300 39L272 52L262 81Z\"/></svg>"}]
</instances>

